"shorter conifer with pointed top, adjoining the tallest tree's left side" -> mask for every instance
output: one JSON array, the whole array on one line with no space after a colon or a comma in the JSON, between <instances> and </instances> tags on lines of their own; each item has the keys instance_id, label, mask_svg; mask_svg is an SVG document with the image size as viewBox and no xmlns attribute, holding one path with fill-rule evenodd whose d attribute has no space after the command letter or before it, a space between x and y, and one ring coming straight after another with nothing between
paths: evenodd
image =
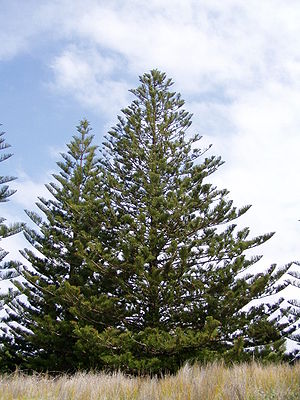
<instances>
[{"instance_id":1,"label":"shorter conifer with pointed top, adjoining the tallest tree's left side","mask_svg":"<svg viewBox=\"0 0 300 400\"><path fill-rule=\"evenodd\" d=\"M108 302L106 315L101 315L96 322L93 310L84 316L80 314L79 318L72 312L74 303L84 307L84 298L93 300L90 288L95 279L98 306L104 302L99 300L100 274L93 270L93 259L87 262L82 251L87 251L91 236L102 243L106 240L100 224L101 204L97 203L100 187L97 147L92 144L93 136L86 120L77 130L68 152L62 154L63 161L57 163L60 172L53 175L55 182L46 185L52 198L39 198L37 206L43 215L27 211L38 231L26 229L25 236L34 250L25 249L22 254L30 267L20 268L24 280L15 282L18 291L13 300L9 299L10 313L6 321L9 334L2 350L7 367L19 365L56 372L75 370L81 363L76 356L74 327L92 319L101 330L103 324L107 325L105 319L113 318ZM26 301L20 294L26 296Z\"/></svg>"}]
</instances>

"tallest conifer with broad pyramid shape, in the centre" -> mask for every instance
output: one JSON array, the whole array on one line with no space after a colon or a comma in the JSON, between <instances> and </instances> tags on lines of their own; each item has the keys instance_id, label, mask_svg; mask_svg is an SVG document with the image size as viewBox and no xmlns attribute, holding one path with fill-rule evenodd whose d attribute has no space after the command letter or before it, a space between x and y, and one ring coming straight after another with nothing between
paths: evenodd
<instances>
[{"instance_id":1,"label":"tallest conifer with broad pyramid shape, in the centre","mask_svg":"<svg viewBox=\"0 0 300 400\"><path fill-rule=\"evenodd\" d=\"M175 371L187 360L243 360L247 349L275 359L282 330L268 317L278 307L243 308L276 291L286 271L252 273L260 257L245 251L272 233L249 238L235 220L228 191L208 182L221 165L197 148L191 114L153 70L132 90L104 143L102 162L109 215L118 241L110 254L126 314L118 329L79 328L78 346L95 360L129 372ZM249 271L249 272L248 272ZM282 327L281 327L282 328ZM95 361L96 363L96 361Z\"/></svg>"}]
</instances>

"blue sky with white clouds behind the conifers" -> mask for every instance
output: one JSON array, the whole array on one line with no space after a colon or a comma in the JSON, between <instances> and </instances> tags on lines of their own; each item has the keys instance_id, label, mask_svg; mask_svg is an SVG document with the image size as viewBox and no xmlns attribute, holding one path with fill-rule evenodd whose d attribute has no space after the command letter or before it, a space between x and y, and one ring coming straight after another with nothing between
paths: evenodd
<instances>
[{"instance_id":1,"label":"blue sky with white clouds behind the conifers","mask_svg":"<svg viewBox=\"0 0 300 400\"><path fill-rule=\"evenodd\" d=\"M252 204L238 226L276 232L255 251L259 268L300 260L298 0L0 0L0 10L0 123L13 152L1 174L18 177L1 205L9 222L28 222L23 210L49 196L79 121L101 145L128 90L157 68L193 113L190 133L225 161L210 181ZM1 245L16 258L26 243Z\"/></svg>"}]
</instances>

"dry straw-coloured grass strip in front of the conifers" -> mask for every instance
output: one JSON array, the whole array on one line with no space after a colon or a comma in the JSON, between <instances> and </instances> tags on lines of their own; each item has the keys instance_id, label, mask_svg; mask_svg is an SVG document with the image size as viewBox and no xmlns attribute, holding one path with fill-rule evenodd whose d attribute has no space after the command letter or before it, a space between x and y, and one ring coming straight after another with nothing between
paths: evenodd
<instances>
[{"instance_id":1,"label":"dry straw-coloured grass strip in front of the conifers","mask_svg":"<svg viewBox=\"0 0 300 400\"><path fill-rule=\"evenodd\" d=\"M163 379L108 375L0 377L0 400L300 400L300 364L185 366Z\"/></svg>"}]
</instances>

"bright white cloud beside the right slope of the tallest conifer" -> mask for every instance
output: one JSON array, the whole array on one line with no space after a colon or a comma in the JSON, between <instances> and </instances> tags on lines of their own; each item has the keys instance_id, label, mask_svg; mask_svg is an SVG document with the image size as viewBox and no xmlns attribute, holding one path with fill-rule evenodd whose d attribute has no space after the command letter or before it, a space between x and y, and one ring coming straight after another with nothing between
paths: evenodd
<instances>
[{"instance_id":1,"label":"bright white cloud beside the right slope of the tallest conifer","mask_svg":"<svg viewBox=\"0 0 300 400\"><path fill-rule=\"evenodd\" d=\"M236 134L218 179L236 200L253 204L245 218L252 231L277 232L267 245L272 262L300 257L299 100L296 88L268 82L228 106Z\"/></svg>"}]
</instances>

